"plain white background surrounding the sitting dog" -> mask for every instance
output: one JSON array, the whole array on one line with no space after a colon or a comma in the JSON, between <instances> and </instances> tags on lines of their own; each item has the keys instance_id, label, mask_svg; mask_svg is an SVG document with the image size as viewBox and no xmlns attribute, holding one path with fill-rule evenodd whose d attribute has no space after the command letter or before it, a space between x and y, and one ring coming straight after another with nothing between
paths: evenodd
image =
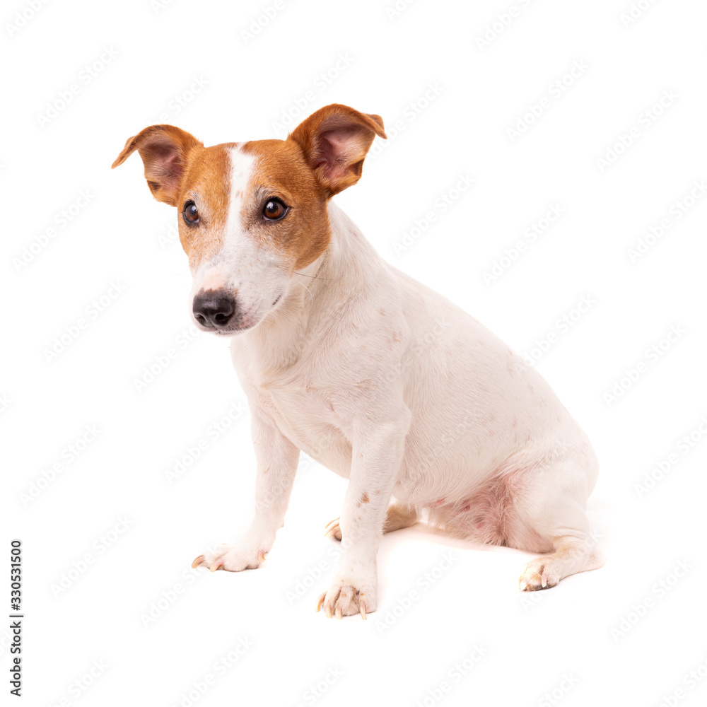
<instances>
[{"instance_id":1,"label":"plain white background surrounding the sitting dog","mask_svg":"<svg viewBox=\"0 0 707 707\"><path fill-rule=\"evenodd\" d=\"M22 539L26 703L703 704L707 199L689 195L707 178L705 6L266 3L4 5L2 554ZM110 164L156 122L205 144L284 137L327 103L378 113L390 137L338 204L390 262L537 349L588 432L602 570L521 594L530 556L417 526L382 542L378 611L327 620L322 530L345 482L303 460L264 566L189 571L250 521L249 416L228 342L187 343L173 209L139 158Z\"/></svg>"}]
</instances>

